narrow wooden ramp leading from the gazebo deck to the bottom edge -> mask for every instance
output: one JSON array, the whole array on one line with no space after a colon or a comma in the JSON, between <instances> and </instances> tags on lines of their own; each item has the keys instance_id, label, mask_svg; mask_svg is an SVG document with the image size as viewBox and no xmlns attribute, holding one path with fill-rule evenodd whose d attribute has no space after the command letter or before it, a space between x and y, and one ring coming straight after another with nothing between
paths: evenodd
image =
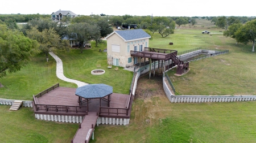
<instances>
[{"instance_id":1,"label":"narrow wooden ramp leading from the gazebo deck to the bottom edge","mask_svg":"<svg viewBox=\"0 0 256 143\"><path fill-rule=\"evenodd\" d=\"M71 143L88 143L90 137L92 137L94 127L98 119L98 112L88 112L82 123L79 125L79 129L76 131L76 135L71 140Z\"/></svg>"}]
</instances>

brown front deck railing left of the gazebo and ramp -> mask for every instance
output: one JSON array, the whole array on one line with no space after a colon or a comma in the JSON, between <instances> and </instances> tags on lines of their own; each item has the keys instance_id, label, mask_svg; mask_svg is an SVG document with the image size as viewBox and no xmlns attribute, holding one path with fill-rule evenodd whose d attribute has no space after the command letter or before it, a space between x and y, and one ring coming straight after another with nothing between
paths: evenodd
<instances>
[{"instance_id":1,"label":"brown front deck railing left of the gazebo and ramp","mask_svg":"<svg viewBox=\"0 0 256 143\"><path fill-rule=\"evenodd\" d=\"M35 104L36 111L55 111L55 112L86 112L86 106L64 106L64 105L42 105Z\"/></svg>"}]
</instances>

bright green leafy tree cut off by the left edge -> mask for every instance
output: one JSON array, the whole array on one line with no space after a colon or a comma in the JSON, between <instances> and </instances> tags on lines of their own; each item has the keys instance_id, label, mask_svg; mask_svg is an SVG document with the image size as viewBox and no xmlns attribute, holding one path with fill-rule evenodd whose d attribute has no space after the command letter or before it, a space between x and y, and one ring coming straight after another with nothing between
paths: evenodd
<instances>
[{"instance_id":1,"label":"bright green leafy tree cut off by the left edge","mask_svg":"<svg viewBox=\"0 0 256 143\"><path fill-rule=\"evenodd\" d=\"M24 67L37 48L35 40L0 25L0 78L6 76L6 72L13 73Z\"/></svg>"}]
</instances>

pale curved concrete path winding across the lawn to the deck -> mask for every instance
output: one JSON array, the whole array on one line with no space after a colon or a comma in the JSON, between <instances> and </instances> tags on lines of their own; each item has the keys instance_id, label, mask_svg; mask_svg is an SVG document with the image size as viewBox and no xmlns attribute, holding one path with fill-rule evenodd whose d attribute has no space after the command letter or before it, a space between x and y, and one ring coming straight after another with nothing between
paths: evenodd
<instances>
[{"instance_id":1,"label":"pale curved concrete path winding across the lawn to the deck","mask_svg":"<svg viewBox=\"0 0 256 143\"><path fill-rule=\"evenodd\" d=\"M88 84L88 83L84 83L82 81L72 80L72 79L68 79L67 77L65 77L63 74L63 63L62 63L61 59L59 57L57 57L57 55L55 55L52 52L49 52L49 54L56 60L56 63L57 63L56 75L59 79L67 81L69 83L75 83L75 84L77 84L78 87Z\"/></svg>"}]
</instances>

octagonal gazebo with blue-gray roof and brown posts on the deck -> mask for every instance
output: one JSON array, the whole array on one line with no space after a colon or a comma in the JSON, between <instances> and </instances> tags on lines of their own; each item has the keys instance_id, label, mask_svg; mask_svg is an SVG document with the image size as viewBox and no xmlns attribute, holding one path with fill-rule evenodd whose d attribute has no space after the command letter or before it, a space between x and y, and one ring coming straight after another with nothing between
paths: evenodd
<instances>
[{"instance_id":1,"label":"octagonal gazebo with blue-gray roof and brown posts on the deck","mask_svg":"<svg viewBox=\"0 0 256 143\"><path fill-rule=\"evenodd\" d=\"M76 89L76 96L79 96L79 106L82 105L83 102L87 102L87 111L89 111L89 100L100 98L100 106L101 99L110 102L110 95L113 93L113 87L106 84L88 84L81 86ZM107 97L108 96L108 97ZM107 97L107 98L106 98ZM84 98L84 100L82 100Z\"/></svg>"}]
</instances>

